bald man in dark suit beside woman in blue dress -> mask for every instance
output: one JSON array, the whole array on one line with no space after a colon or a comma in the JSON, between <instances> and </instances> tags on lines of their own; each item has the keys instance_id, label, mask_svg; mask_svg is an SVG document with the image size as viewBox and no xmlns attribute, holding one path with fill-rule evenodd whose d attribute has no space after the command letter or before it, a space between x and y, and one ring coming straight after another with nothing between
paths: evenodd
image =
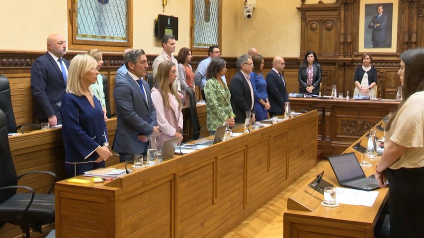
<instances>
[{"instance_id":1,"label":"bald man in dark suit beside woman in blue dress","mask_svg":"<svg viewBox=\"0 0 424 238\"><path fill-rule=\"evenodd\" d=\"M269 116L283 115L285 103L289 102L286 90L286 82L282 75L286 66L283 58L277 56L272 60L272 69L266 74L266 92L268 94Z\"/></svg>"}]
</instances>

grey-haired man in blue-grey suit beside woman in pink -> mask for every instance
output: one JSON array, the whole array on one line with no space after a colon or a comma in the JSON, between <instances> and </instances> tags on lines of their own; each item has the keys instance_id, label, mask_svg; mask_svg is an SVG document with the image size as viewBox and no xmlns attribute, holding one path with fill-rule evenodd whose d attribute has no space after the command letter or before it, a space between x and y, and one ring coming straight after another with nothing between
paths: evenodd
<instances>
[{"instance_id":1,"label":"grey-haired man in blue-grey suit beside woman in pink","mask_svg":"<svg viewBox=\"0 0 424 238\"><path fill-rule=\"evenodd\" d=\"M149 68L146 54L131 50L124 62L128 72L113 92L118 124L112 149L119 153L120 162L134 159L134 154L145 154L149 136L159 134L150 87L141 79Z\"/></svg>"}]
</instances>

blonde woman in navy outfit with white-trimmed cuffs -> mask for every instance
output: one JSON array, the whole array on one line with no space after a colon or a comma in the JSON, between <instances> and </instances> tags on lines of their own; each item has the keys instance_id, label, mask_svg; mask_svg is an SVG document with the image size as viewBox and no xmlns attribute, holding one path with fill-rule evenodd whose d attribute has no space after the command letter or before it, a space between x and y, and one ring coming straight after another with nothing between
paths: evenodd
<instances>
[{"instance_id":1,"label":"blonde woman in navy outfit with white-trimmed cuffs","mask_svg":"<svg viewBox=\"0 0 424 238\"><path fill-rule=\"evenodd\" d=\"M65 168L69 177L104 168L104 161L112 156L102 106L89 90L97 80L96 66L96 60L85 54L74 57L69 66L68 84L60 107Z\"/></svg>"}]
</instances>

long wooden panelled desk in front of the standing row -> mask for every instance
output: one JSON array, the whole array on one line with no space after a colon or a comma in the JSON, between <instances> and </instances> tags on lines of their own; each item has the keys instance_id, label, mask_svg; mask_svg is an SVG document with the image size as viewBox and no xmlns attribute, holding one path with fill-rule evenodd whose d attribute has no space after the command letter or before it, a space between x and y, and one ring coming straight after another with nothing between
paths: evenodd
<instances>
[{"instance_id":1,"label":"long wooden panelled desk in front of the standing row","mask_svg":"<svg viewBox=\"0 0 424 238\"><path fill-rule=\"evenodd\" d=\"M57 182L56 234L221 237L316 165L317 123L313 111L103 184Z\"/></svg>"}]
</instances>

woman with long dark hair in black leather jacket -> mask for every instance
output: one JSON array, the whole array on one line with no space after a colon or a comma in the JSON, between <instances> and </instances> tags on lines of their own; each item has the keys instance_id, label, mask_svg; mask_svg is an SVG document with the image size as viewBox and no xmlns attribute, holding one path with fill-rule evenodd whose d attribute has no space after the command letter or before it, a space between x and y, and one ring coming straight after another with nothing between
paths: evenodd
<instances>
[{"instance_id":1,"label":"woman with long dark hair in black leather jacket","mask_svg":"<svg viewBox=\"0 0 424 238\"><path fill-rule=\"evenodd\" d=\"M299 93L318 95L321 92L320 83L322 80L323 73L317 55L314 51L308 51L299 68Z\"/></svg>"}]
</instances>

